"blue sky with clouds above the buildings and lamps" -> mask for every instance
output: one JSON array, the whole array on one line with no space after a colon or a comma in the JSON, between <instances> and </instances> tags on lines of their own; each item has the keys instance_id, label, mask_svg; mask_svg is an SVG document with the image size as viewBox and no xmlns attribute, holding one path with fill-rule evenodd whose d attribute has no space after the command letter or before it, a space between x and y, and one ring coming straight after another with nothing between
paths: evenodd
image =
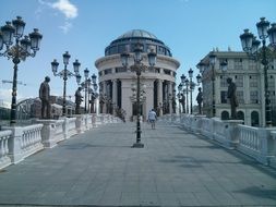
<instances>
[{"instance_id":1,"label":"blue sky with clouds above the buildings and lamps","mask_svg":"<svg viewBox=\"0 0 276 207\"><path fill-rule=\"evenodd\" d=\"M71 61L97 74L95 60L105 48L131 29L145 29L163 40L180 61L177 83L213 48L240 51L239 35L244 28L256 34L261 16L276 22L275 0L1 0L0 25L17 15L26 22L25 34L38 28L43 34L40 50L19 65L17 98L36 97L39 84L50 76L51 94L62 95L62 80L55 77L50 62L57 59L63 69L62 53ZM3 51L3 50L2 50ZM11 101L13 64L0 58L0 102ZM194 76L195 76L194 75ZM76 89L75 78L68 81L68 95Z\"/></svg>"}]
</instances>

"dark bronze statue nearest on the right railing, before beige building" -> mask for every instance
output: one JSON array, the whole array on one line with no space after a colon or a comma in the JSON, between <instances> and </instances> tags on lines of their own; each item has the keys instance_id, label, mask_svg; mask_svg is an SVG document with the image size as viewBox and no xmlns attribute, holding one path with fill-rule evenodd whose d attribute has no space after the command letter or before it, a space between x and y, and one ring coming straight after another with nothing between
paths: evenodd
<instances>
[{"instance_id":1,"label":"dark bronze statue nearest on the right railing, before beige building","mask_svg":"<svg viewBox=\"0 0 276 207\"><path fill-rule=\"evenodd\" d=\"M227 78L228 83L228 92L227 92L227 98L230 100L230 106L231 106L231 119L237 119L237 107L239 106L238 104L238 98L236 95L237 86L232 82L231 77Z\"/></svg>"}]
</instances>

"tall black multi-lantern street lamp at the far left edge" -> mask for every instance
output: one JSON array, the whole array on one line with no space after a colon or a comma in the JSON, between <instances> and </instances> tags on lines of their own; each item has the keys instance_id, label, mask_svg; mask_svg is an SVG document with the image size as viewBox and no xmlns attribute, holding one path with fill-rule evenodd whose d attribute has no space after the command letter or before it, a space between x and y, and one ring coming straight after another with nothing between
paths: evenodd
<instances>
[{"instance_id":1,"label":"tall black multi-lantern street lamp at the far left edge","mask_svg":"<svg viewBox=\"0 0 276 207\"><path fill-rule=\"evenodd\" d=\"M5 45L5 51L0 52L0 56L7 57L8 60L12 59L14 63L10 125L16 123L17 64L21 60L25 61L27 57L34 58L36 56L43 38L43 35L38 33L37 28L34 28L33 33L22 38L25 24L21 16L16 16L16 20L7 22L4 26L1 26L0 31L0 50ZM13 38L15 38L15 45L13 45Z\"/></svg>"}]
</instances>

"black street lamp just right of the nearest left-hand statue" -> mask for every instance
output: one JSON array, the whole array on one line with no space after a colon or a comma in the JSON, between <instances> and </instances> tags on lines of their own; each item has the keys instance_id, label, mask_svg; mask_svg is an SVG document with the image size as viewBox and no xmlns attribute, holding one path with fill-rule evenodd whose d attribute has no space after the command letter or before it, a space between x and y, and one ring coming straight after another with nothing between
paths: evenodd
<instances>
[{"instance_id":1,"label":"black street lamp just right of the nearest left-hand statue","mask_svg":"<svg viewBox=\"0 0 276 207\"><path fill-rule=\"evenodd\" d=\"M53 59L53 61L51 62L51 70L55 76L60 76L63 78L63 102L62 102L62 115L67 115L67 81L68 77L72 77L75 76L76 77L76 83L80 84L81 81L81 76L80 76L80 65L81 63L79 62L79 60L75 60L75 62L73 62L73 68L74 68L74 73L70 72L67 66L69 64L69 59L70 59L70 54L67 51L65 53L63 53L63 64L64 64L64 70L60 71L58 73L58 66L59 63L57 62L56 59Z\"/></svg>"}]
</instances>

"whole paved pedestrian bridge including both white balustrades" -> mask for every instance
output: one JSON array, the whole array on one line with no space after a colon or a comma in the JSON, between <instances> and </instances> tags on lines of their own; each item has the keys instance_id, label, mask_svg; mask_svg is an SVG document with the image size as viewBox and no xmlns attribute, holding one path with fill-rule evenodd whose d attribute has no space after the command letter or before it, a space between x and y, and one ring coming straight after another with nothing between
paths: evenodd
<instances>
[{"instance_id":1,"label":"whole paved pedestrian bridge including both white balustrades","mask_svg":"<svg viewBox=\"0 0 276 207\"><path fill-rule=\"evenodd\" d=\"M276 206L275 130L107 114L0 131L0 206Z\"/></svg>"}]
</instances>

